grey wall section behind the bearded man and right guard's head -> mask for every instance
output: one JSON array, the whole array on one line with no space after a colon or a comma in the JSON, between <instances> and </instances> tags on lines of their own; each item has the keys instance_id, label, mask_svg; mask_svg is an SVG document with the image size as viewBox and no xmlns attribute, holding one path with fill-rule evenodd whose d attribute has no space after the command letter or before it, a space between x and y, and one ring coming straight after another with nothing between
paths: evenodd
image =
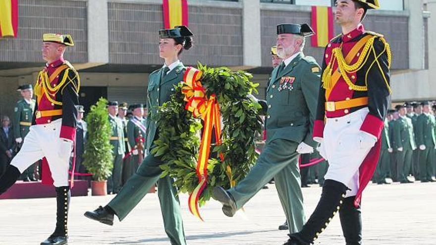
<instances>
[{"instance_id":1,"label":"grey wall section behind the bearded man and right guard's head","mask_svg":"<svg viewBox=\"0 0 436 245\"><path fill-rule=\"evenodd\" d=\"M270 51L275 45L275 26L280 23L310 23L310 12L261 10L262 66L271 65ZM408 69L408 18L402 16L368 15L364 20L366 30L382 33L392 51L392 69ZM335 25L335 34L340 29ZM314 56L322 62L323 48L311 47L310 38L306 40L306 55Z\"/></svg>"}]
</instances>

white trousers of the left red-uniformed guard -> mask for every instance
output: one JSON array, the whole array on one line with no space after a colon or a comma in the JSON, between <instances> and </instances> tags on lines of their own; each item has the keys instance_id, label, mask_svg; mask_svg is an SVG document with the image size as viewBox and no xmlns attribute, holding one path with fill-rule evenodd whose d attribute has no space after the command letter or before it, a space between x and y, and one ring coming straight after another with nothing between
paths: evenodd
<instances>
[{"instance_id":1,"label":"white trousers of the left red-uniformed guard","mask_svg":"<svg viewBox=\"0 0 436 245\"><path fill-rule=\"evenodd\" d=\"M11 165L20 173L30 165L47 158L55 187L68 186L69 154L59 155L61 139L59 138L61 119L48 124L33 125L24 139L23 146L12 159Z\"/></svg>"}]
</instances>

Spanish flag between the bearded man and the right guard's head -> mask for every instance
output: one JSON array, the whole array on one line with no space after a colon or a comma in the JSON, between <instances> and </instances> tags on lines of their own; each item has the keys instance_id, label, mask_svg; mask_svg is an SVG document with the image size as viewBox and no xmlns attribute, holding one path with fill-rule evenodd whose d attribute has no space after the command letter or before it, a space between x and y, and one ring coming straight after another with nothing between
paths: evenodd
<instances>
[{"instance_id":1,"label":"Spanish flag between the bearded man and the right guard's head","mask_svg":"<svg viewBox=\"0 0 436 245\"><path fill-rule=\"evenodd\" d=\"M326 47L333 38L333 12L331 7L312 6L312 47Z\"/></svg>"}]
</instances>

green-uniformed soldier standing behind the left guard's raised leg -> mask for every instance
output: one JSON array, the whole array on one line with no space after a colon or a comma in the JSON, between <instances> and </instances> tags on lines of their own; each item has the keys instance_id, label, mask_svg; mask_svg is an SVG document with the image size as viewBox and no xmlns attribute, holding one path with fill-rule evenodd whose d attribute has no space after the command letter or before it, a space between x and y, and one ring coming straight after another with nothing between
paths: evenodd
<instances>
[{"instance_id":1,"label":"green-uniformed soldier standing behind the left guard's raised leg","mask_svg":"<svg viewBox=\"0 0 436 245\"><path fill-rule=\"evenodd\" d=\"M35 109L35 99L33 99L32 85L22 85L18 87L22 99L20 99L14 108L13 129L17 150L19 151L24 138L29 133L29 128L32 125L33 111ZM35 173L38 172L38 164L32 164L21 174L20 179L24 181L36 181Z\"/></svg>"}]
</instances>

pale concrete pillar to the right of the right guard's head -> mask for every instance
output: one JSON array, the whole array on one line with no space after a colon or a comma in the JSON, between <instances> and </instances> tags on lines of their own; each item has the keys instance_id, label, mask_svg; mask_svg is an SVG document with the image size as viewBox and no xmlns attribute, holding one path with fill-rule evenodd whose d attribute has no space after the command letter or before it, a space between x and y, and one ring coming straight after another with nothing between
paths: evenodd
<instances>
[{"instance_id":1,"label":"pale concrete pillar to the right of the right guard's head","mask_svg":"<svg viewBox=\"0 0 436 245\"><path fill-rule=\"evenodd\" d=\"M423 0L404 0L409 10L409 69L424 69Z\"/></svg>"}]
</instances>

